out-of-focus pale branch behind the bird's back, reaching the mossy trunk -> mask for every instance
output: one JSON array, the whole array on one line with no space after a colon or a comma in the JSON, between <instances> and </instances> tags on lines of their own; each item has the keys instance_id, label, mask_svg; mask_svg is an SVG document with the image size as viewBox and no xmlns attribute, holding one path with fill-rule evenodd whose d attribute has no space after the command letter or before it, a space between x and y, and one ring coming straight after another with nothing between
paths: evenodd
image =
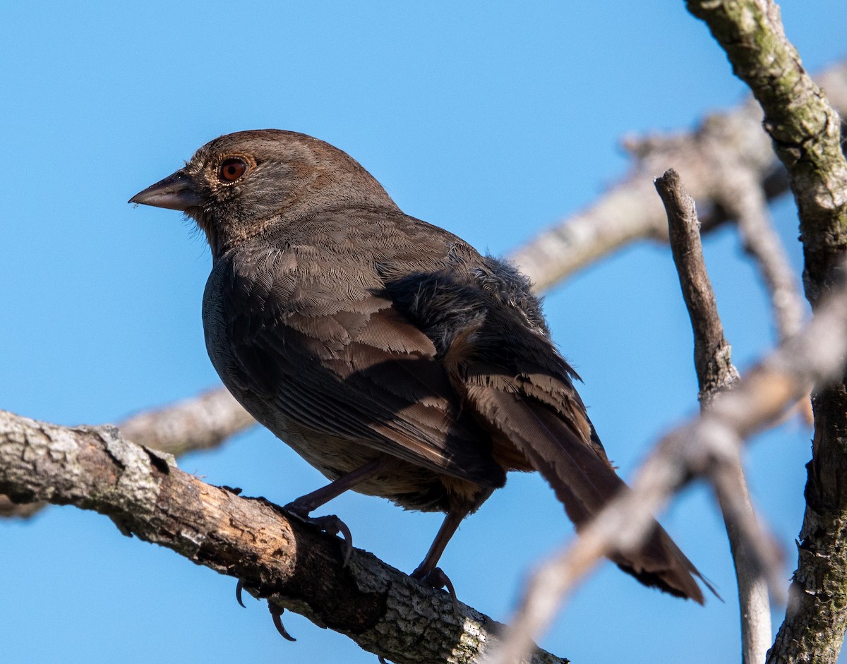
<instances>
[{"instance_id":1,"label":"out-of-focus pale branch behind the bird's back, reaching the mossy trunk","mask_svg":"<svg viewBox=\"0 0 847 664\"><path fill-rule=\"evenodd\" d=\"M847 62L826 70L819 79L836 107L847 113ZM734 169L743 166L764 200L781 196L788 191L789 180L761 130L761 119L761 108L750 100L727 113L708 116L694 131L626 139L624 147L634 158L628 175L589 208L512 252L512 260L540 290L546 290L633 241L667 242L667 219L652 180L672 166L697 202L703 232L737 219L739 210L724 207L728 164Z\"/></svg>"}]
</instances>

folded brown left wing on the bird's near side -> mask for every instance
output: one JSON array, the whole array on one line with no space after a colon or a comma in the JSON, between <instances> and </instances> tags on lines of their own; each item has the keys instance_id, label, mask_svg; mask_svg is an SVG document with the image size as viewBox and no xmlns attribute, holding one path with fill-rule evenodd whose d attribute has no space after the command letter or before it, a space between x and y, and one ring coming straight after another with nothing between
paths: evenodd
<instances>
[{"instance_id":1,"label":"folded brown left wing on the bird's near side","mask_svg":"<svg viewBox=\"0 0 847 664\"><path fill-rule=\"evenodd\" d=\"M271 401L317 432L502 486L506 475L490 440L462 414L432 341L361 277L342 279L351 266L309 258L296 248L265 252L230 270L224 302L233 362L226 373L235 391ZM320 289L306 283L310 265L335 270L340 285L316 296Z\"/></svg>"}]
</instances>

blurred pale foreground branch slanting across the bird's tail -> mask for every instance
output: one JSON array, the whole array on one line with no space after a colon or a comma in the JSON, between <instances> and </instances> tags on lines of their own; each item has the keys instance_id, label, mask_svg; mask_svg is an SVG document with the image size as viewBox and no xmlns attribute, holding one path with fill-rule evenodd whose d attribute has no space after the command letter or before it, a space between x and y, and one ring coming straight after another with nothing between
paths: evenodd
<instances>
[{"instance_id":1,"label":"blurred pale foreground branch slanting across the bird's tail","mask_svg":"<svg viewBox=\"0 0 847 664\"><path fill-rule=\"evenodd\" d=\"M845 353L847 289L831 296L800 335L783 342L734 390L717 395L699 417L656 445L632 491L611 501L566 551L534 575L503 647L489 664L519 661L529 652L532 639L548 626L562 598L601 558L639 546L653 514L690 479L705 475L726 483L726 469L738 464L739 445L776 421L809 385L839 378ZM733 517L743 523L743 512Z\"/></svg>"}]
</instances>

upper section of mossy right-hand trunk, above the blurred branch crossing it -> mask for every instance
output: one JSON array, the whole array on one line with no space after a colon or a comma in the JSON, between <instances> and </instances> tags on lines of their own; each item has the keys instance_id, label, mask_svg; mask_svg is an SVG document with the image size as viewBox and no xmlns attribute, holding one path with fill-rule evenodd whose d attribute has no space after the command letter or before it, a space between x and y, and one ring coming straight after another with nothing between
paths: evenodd
<instances>
[{"instance_id":1,"label":"upper section of mossy right-hand trunk, above the blurred branch crossing it","mask_svg":"<svg viewBox=\"0 0 847 664\"><path fill-rule=\"evenodd\" d=\"M841 120L805 73L785 37L778 5L768 0L688 0L726 51L765 113L764 125L800 213L806 252L806 295L816 302L840 252L847 246L847 163ZM811 252L811 253L810 253Z\"/></svg>"}]
</instances>

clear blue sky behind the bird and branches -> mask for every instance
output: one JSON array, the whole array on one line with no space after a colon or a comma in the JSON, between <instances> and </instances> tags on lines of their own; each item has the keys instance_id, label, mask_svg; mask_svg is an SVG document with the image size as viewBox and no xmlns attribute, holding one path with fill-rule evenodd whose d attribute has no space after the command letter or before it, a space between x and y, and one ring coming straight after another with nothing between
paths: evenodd
<instances>
[{"instance_id":1,"label":"clear blue sky behind the bird and branches","mask_svg":"<svg viewBox=\"0 0 847 664\"><path fill-rule=\"evenodd\" d=\"M847 56L843 0L783 3L811 71ZM202 341L209 268L177 213L126 200L223 133L299 130L350 152L407 213L503 254L620 177L621 136L690 127L744 86L684 3L3 3L0 407L76 424L217 384ZM790 200L774 207L800 270ZM706 241L734 358L772 343L767 300L732 230ZM633 473L695 411L691 335L669 252L634 246L548 294L556 341L609 455ZM795 561L810 431L748 455L754 499ZM318 473L256 429L180 468L280 503ZM345 495L356 544L411 571L439 517ZM606 565L542 639L579 661L737 661L722 523L702 487L662 517L720 588L705 608ZM507 619L523 578L572 537L537 476L513 476L443 559L462 600ZM53 507L0 523L4 661L375 662L348 639L235 604L235 581ZM775 623L783 609L775 608Z\"/></svg>"}]
</instances>

